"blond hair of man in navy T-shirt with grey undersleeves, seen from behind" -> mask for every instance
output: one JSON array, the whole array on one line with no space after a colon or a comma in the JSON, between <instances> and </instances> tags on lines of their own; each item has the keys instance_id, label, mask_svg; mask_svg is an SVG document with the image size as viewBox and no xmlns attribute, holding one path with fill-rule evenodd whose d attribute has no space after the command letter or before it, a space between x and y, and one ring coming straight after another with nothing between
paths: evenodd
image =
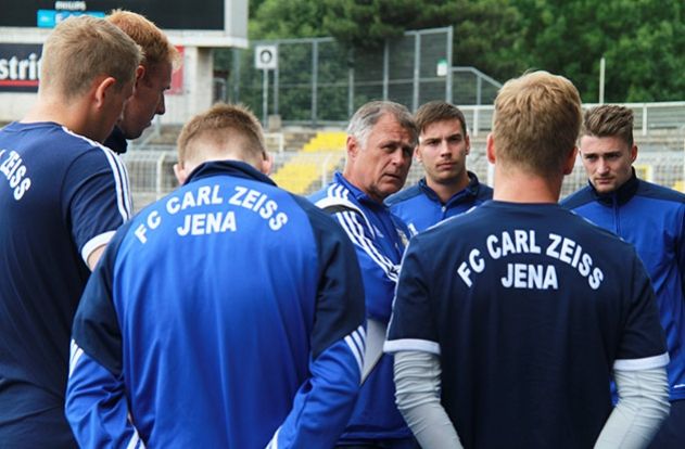
<instances>
[{"instance_id":1,"label":"blond hair of man in navy T-shirt with grey undersleeves, seen from behind","mask_svg":"<svg viewBox=\"0 0 685 449\"><path fill-rule=\"evenodd\" d=\"M497 158L534 174L558 174L581 120L581 98L567 78L540 70L510 79L495 99Z\"/></svg>"}]
</instances>

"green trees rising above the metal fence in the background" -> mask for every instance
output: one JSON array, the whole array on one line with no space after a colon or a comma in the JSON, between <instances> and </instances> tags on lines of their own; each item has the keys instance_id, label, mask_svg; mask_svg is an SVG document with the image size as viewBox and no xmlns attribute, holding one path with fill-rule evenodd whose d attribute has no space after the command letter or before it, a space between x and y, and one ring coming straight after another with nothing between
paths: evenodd
<instances>
[{"instance_id":1,"label":"green trees rising above the metal fence in the background","mask_svg":"<svg viewBox=\"0 0 685 449\"><path fill-rule=\"evenodd\" d=\"M502 81L546 69L595 102L604 56L605 101L685 99L683 0L253 0L250 14L253 40L332 36L357 59L405 30L452 25L453 64ZM230 64L216 52L217 68Z\"/></svg>"}]
</instances>

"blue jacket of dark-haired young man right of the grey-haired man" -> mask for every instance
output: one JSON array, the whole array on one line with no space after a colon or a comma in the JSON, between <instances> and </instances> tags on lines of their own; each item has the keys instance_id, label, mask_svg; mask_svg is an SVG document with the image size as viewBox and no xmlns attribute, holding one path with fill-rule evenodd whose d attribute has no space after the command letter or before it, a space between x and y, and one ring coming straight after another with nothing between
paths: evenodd
<instances>
[{"instance_id":1,"label":"blue jacket of dark-haired young man right of the grey-haired man","mask_svg":"<svg viewBox=\"0 0 685 449\"><path fill-rule=\"evenodd\" d=\"M407 224L411 233L416 234L492 200L493 190L480 183L475 174L468 171L468 176L469 184L452 195L445 204L433 189L428 187L426 178L419 180L416 185L389 196L385 204Z\"/></svg>"}]
</instances>

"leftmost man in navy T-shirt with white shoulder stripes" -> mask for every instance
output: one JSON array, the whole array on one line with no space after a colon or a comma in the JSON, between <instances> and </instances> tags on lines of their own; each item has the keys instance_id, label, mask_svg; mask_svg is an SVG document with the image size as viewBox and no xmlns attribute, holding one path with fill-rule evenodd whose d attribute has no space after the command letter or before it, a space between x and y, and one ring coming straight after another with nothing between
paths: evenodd
<instances>
[{"instance_id":1,"label":"leftmost man in navy T-shirt with white shoulder stripes","mask_svg":"<svg viewBox=\"0 0 685 449\"><path fill-rule=\"evenodd\" d=\"M64 419L72 320L131 211L126 169L99 142L141 57L104 20L62 22L43 46L35 106L0 130L0 446L76 445Z\"/></svg>"}]
</instances>

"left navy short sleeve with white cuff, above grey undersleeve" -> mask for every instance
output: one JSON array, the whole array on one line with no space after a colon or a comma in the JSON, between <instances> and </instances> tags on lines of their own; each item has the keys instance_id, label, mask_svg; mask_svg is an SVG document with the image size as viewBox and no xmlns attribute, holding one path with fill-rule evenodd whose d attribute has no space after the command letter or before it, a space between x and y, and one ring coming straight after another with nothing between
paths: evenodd
<instances>
[{"instance_id":1,"label":"left navy short sleeve with white cuff, above grey undersleeve","mask_svg":"<svg viewBox=\"0 0 685 449\"><path fill-rule=\"evenodd\" d=\"M393 313L383 346L385 352L421 350L440 355L435 319L430 300L431 270L422 255L422 235L411 239L402 260Z\"/></svg>"}]
</instances>

